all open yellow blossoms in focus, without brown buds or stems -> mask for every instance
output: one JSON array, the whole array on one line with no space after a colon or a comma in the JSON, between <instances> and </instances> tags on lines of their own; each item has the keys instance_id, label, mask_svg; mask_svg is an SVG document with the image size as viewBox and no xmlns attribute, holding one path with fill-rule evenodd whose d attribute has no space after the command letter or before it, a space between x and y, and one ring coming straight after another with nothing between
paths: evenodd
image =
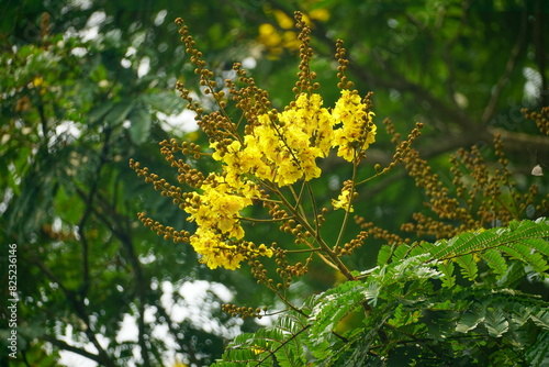
<instances>
[{"instance_id":1,"label":"all open yellow blossoms in focus, without brown buds or stems","mask_svg":"<svg viewBox=\"0 0 549 367\"><path fill-rule=\"evenodd\" d=\"M211 175L202 193L193 192L184 208L198 225L190 243L201 260L210 268L235 269L250 254L272 256L265 245L259 249L244 245L239 213L261 198L259 182L284 187L320 177L316 159L326 157L332 147L346 160L359 159L376 136L373 113L366 110L349 90L341 91L332 112L320 94L301 93L283 112L258 115L243 137L228 145L213 142L212 157L224 164L224 171ZM334 208L347 210L350 197L349 190L341 191Z\"/></svg>"}]
</instances>

